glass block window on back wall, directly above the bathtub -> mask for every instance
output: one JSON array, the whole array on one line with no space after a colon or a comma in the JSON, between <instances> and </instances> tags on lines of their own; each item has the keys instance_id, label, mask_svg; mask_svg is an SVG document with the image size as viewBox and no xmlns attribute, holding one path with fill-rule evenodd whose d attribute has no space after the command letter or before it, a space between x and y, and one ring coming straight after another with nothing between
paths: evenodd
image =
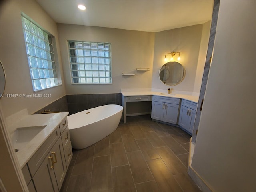
<instances>
[{"instance_id":1,"label":"glass block window on back wall, directly above the bathtub","mask_svg":"<svg viewBox=\"0 0 256 192\"><path fill-rule=\"evenodd\" d=\"M110 43L68 41L73 84L110 84Z\"/></svg>"}]
</instances>

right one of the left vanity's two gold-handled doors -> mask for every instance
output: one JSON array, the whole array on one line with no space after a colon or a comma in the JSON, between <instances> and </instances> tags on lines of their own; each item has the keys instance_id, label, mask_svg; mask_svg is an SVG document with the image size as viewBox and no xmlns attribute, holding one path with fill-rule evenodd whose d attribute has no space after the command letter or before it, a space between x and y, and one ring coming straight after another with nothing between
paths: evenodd
<instances>
[{"instance_id":1,"label":"right one of the left vanity's two gold-handled doors","mask_svg":"<svg viewBox=\"0 0 256 192\"><path fill-rule=\"evenodd\" d=\"M50 154L54 160L54 173L55 173L56 181L60 190L67 172L61 137L52 147Z\"/></svg>"}]
</instances>

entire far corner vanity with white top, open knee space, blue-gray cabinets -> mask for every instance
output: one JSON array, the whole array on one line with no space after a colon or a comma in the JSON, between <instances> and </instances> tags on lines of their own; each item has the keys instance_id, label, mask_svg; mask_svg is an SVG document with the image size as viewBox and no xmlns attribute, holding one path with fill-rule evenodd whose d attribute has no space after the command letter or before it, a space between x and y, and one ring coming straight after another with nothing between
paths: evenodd
<instances>
[{"instance_id":1,"label":"entire far corner vanity with white top, open knee space, blue-gray cabinets","mask_svg":"<svg viewBox=\"0 0 256 192\"><path fill-rule=\"evenodd\" d=\"M153 121L178 126L192 134L198 96L148 89L122 89L121 94L124 123L126 116L151 114Z\"/></svg>"}]
</instances>

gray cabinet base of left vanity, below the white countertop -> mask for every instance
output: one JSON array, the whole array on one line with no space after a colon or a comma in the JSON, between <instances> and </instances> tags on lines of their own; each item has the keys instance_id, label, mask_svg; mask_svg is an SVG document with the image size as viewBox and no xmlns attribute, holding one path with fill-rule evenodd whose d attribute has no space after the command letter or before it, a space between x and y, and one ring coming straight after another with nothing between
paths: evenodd
<instances>
[{"instance_id":1,"label":"gray cabinet base of left vanity, below the white countertop","mask_svg":"<svg viewBox=\"0 0 256 192\"><path fill-rule=\"evenodd\" d=\"M33 184L37 192L60 191L72 155L65 118L22 168L31 191Z\"/></svg>"}]
</instances>

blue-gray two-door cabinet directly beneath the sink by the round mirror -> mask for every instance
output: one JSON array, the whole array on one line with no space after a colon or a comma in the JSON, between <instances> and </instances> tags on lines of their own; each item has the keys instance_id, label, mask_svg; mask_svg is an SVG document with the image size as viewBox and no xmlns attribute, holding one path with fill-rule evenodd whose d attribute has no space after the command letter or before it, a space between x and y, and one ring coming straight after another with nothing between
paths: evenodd
<instances>
[{"instance_id":1,"label":"blue-gray two-door cabinet directly beneath the sink by the round mirror","mask_svg":"<svg viewBox=\"0 0 256 192\"><path fill-rule=\"evenodd\" d=\"M153 96L151 118L153 120L177 124L179 105L179 98Z\"/></svg>"}]
</instances>

